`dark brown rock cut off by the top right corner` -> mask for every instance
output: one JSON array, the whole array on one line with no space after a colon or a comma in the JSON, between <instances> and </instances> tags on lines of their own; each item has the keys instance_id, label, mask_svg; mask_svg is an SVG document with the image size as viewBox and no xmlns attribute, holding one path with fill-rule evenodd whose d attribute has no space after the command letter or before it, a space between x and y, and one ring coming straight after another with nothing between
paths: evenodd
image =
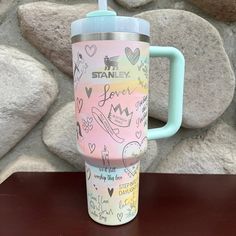
<instances>
[{"instance_id":1,"label":"dark brown rock cut off by the top right corner","mask_svg":"<svg viewBox=\"0 0 236 236\"><path fill-rule=\"evenodd\" d=\"M235 0L188 0L205 13L223 21L236 21Z\"/></svg>"}]
</instances>

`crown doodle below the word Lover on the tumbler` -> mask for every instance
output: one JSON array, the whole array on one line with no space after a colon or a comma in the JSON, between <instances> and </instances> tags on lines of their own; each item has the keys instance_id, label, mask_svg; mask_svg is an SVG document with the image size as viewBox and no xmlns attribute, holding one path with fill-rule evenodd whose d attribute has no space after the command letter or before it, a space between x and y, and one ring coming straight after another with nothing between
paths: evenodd
<instances>
[{"instance_id":1,"label":"crown doodle below the word Lover on the tumbler","mask_svg":"<svg viewBox=\"0 0 236 236\"><path fill-rule=\"evenodd\" d=\"M108 115L108 119L119 127L128 127L130 126L130 122L133 116L133 112L129 113L128 108L126 107L122 110L121 105L113 106L111 104L110 112Z\"/></svg>"}]
</instances>

